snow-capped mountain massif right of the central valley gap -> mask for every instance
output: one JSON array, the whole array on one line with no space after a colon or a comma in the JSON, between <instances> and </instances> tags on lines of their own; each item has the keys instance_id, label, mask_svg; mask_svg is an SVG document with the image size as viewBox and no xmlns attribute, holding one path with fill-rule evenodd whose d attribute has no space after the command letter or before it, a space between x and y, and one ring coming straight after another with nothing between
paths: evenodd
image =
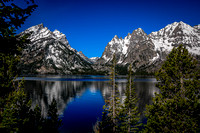
<instances>
[{"instance_id":1,"label":"snow-capped mountain massif right of the central valley gap","mask_svg":"<svg viewBox=\"0 0 200 133\"><path fill-rule=\"evenodd\" d=\"M174 22L147 35L141 28L124 39L117 35L107 44L98 63L109 64L115 53L118 65L132 63L135 69L164 60L175 46L183 44L191 54L200 55L200 25Z\"/></svg>"}]
</instances>

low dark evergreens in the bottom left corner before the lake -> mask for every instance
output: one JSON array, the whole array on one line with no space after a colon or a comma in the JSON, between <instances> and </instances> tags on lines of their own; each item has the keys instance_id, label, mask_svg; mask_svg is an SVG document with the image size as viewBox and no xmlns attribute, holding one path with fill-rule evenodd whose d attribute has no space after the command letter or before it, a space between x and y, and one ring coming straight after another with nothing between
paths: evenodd
<instances>
[{"instance_id":1,"label":"low dark evergreens in the bottom left corner before the lake","mask_svg":"<svg viewBox=\"0 0 200 133\"><path fill-rule=\"evenodd\" d=\"M20 82L18 90L10 93L6 99L6 105L1 115L1 131L19 133L58 132L62 121L58 118L55 99L49 105L48 117L44 118L39 106L36 105L32 109L31 101L27 98L22 85L23 82Z\"/></svg>"}]
</instances>

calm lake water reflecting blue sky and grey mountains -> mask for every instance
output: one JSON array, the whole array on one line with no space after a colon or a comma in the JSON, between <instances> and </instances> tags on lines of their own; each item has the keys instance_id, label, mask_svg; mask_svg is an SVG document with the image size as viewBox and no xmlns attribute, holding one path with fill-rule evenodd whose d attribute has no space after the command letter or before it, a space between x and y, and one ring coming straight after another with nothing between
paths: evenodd
<instances>
[{"instance_id":1,"label":"calm lake water reflecting blue sky and grey mountains","mask_svg":"<svg viewBox=\"0 0 200 133\"><path fill-rule=\"evenodd\" d=\"M111 96L109 77L107 76L41 76L25 77L25 90L32 99L32 106L39 105L44 116L48 105L55 98L58 113L62 118L62 133L88 133L101 119L105 100ZM139 97L139 111L152 103L155 92L155 78L135 79L136 93ZM121 101L125 99L126 77L116 80ZM141 119L144 116L141 116Z\"/></svg>"}]
</instances>

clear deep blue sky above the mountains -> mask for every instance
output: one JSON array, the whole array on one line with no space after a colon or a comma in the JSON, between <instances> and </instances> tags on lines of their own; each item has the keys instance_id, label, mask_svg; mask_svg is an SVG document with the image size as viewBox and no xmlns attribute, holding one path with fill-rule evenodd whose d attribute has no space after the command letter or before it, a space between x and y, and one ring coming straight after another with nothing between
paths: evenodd
<instances>
[{"instance_id":1,"label":"clear deep blue sky above the mountains","mask_svg":"<svg viewBox=\"0 0 200 133\"><path fill-rule=\"evenodd\" d=\"M19 0L22 1L22 0ZM142 28L147 34L167 24L200 24L200 0L35 0L38 8L18 33L40 23L67 36L71 47L100 57L118 35ZM18 3L20 4L20 3Z\"/></svg>"}]
</instances>

